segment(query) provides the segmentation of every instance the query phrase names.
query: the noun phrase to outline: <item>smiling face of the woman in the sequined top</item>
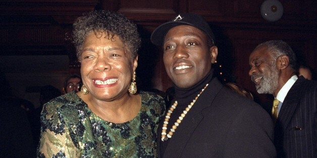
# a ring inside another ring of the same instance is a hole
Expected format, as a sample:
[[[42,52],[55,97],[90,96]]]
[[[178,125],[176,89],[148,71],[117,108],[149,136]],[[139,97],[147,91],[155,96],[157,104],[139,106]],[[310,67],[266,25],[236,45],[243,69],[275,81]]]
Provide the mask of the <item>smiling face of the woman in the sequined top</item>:
[[[102,101],[112,101],[128,95],[137,58],[131,61],[130,50],[115,35],[90,32],[83,44],[81,74],[88,95]]]

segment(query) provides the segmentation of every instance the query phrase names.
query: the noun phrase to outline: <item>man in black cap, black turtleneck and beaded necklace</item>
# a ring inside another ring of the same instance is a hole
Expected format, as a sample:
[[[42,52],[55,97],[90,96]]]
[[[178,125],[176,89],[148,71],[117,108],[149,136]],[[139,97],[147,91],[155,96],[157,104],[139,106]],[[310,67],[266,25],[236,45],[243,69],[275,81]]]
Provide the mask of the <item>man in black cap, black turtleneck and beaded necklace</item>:
[[[206,21],[180,14],[157,27],[175,98],[158,127],[160,157],[275,157],[273,121],[253,101],[214,76],[218,48]]]

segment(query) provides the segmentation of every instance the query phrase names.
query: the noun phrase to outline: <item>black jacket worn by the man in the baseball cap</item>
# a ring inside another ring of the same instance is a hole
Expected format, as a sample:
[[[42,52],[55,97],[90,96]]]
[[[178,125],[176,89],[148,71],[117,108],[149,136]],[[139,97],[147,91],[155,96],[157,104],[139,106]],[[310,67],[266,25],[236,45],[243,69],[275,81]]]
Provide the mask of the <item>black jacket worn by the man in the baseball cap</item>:
[[[209,83],[168,140],[164,155],[160,152],[162,124],[157,134],[159,156],[276,156],[269,114],[255,102],[225,88],[217,78]]]

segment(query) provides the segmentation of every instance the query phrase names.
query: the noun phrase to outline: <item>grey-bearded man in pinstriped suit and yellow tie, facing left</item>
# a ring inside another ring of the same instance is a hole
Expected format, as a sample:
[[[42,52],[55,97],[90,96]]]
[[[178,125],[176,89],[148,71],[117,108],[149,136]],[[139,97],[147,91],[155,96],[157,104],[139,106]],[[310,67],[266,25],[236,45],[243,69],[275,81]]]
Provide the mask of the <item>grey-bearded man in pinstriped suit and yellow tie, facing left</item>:
[[[257,93],[275,98],[272,117],[278,157],[316,157],[317,83],[297,77],[295,53],[282,40],[256,46],[249,64]]]

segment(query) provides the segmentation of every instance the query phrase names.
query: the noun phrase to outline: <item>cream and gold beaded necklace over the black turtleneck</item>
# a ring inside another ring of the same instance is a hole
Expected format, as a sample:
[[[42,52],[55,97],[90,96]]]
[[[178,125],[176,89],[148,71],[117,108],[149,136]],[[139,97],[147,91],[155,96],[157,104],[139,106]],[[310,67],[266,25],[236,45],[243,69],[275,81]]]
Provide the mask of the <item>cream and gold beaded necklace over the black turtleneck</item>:
[[[184,117],[186,116],[186,114],[188,113],[190,108],[192,108],[192,106],[195,104],[195,102],[198,99],[198,97],[207,88],[207,86],[208,86],[208,84],[206,84],[206,86],[199,92],[197,97],[195,97],[195,99],[190,104],[188,104],[188,106],[185,108],[185,110],[183,111],[181,116],[178,117],[178,119],[176,120],[176,122],[174,123],[172,128],[170,129],[170,132],[167,134],[166,133],[167,132],[167,125],[169,124],[169,120],[171,118],[171,115],[172,115],[173,111],[177,107],[177,101],[175,101],[175,103],[171,106],[171,108],[168,110],[168,112],[166,113],[166,116],[165,116],[164,124],[163,124],[163,127],[162,127],[162,139],[161,139],[162,141],[167,141],[170,138],[172,138],[172,135],[174,134],[174,132],[177,129],[177,127],[179,126],[179,124],[181,124],[182,120],[184,119]]]

